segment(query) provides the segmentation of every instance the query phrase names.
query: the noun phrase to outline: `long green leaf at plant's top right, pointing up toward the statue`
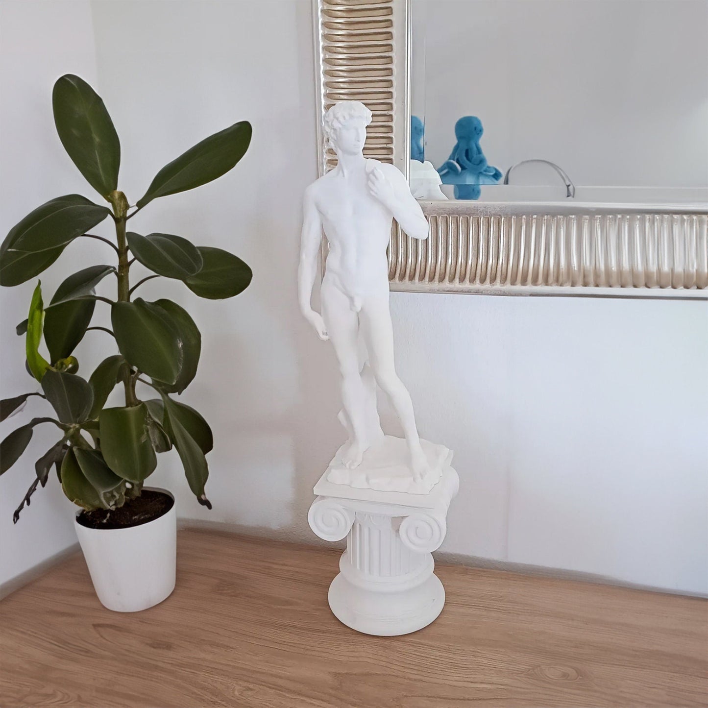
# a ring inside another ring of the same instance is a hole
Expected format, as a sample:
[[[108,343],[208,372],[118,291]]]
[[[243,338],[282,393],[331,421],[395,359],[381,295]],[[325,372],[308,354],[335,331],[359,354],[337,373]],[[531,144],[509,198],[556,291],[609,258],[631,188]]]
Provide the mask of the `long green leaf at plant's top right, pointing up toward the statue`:
[[[142,209],[157,197],[194,189],[221,177],[246,154],[251,132],[251,123],[242,120],[188,149],[156,174],[137,206]]]

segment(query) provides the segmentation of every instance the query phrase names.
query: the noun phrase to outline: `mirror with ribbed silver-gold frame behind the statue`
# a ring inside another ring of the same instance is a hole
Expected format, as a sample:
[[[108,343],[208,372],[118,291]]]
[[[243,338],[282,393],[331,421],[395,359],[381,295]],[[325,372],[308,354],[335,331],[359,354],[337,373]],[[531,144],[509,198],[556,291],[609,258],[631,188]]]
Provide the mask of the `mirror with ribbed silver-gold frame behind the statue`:
[[[392,290],[708,297],[708,3],[315,3],[320,124],[366,103],[430,222]]]

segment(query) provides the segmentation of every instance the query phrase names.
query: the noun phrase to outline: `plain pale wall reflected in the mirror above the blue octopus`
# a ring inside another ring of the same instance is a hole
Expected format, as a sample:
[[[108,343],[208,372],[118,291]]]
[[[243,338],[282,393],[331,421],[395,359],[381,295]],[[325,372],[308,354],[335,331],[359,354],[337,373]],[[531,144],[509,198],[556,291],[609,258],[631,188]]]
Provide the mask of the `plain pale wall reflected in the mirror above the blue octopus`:
[[[576,185],[706,188],[708,2],[413,0],[413,109],[436,167],[476,115],[502,172],[541,158]]]

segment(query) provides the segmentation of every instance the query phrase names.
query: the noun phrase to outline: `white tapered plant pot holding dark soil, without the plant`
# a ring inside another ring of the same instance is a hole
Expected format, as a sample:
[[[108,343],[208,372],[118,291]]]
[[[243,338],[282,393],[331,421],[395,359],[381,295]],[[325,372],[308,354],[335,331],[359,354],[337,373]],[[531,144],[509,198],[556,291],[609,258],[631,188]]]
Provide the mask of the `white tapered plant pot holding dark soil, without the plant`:
[[[145,489],[164,492],[174,499],[166,489]],[[168,598],[174,590],[176,504],[173,503],[166,514],[139,526],[92,529],[77,520],[74,520],[74,526],[89,566],[93,588],[108,610],[147,610]]]

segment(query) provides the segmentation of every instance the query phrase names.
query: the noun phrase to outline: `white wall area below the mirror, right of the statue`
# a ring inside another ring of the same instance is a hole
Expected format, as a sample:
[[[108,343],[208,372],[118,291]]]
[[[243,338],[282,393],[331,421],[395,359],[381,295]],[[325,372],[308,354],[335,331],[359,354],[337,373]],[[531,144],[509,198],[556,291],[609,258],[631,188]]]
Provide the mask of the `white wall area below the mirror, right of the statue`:
[[[401,377],[462,479],[443,550],[708,589],[706,302],[404,295]]]

